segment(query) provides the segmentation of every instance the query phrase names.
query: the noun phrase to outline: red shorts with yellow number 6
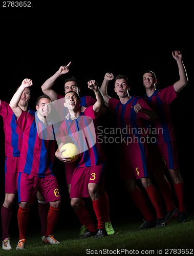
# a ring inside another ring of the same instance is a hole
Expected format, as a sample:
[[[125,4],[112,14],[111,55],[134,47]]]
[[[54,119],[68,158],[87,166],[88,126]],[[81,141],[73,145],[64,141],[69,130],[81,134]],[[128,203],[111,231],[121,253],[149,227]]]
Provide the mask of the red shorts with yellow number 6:
[[[39,191],[46,203],[60,200],[59,185],[55,176],[39,178],[26,173],[18,175],[18,202],[33,204]]]

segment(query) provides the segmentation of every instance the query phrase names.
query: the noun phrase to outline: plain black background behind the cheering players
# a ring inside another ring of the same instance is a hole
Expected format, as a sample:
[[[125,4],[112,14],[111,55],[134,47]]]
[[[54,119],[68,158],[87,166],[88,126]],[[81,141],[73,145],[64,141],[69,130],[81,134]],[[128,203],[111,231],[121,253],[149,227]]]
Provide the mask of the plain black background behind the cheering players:
[[[184,7],[178,11],[168,6],[163,12],[161,8],[128,8],[122,3],[116,6],[99,6],[94,3],[93,6],[66,6],[64,3],[48,5],[44,1],[41,1],[41,6],[40,3],[33,3],[30,9],[1,8],[0,98],[9,102],[21,81],[31,78],[33,86],[29,106],[35,109],[36,98],[42,94],[42,83],[69,61],[72,61],[69,73],[59,77],[53,87],[60,94],[63,94],[64,77],[74,75],[81,87],[80,95],[93,96],[87,88],[88,80],[96,79],[100,85],[108,71],[114,75],[126,75],[131,83],[131,95],[138,95],[144,93],[143,72],[152,70],[157,75],[157,89],[160,90],[179,79],[177,63],[171,51],[182,51],[189,82],[170,108],[177,137],[180,172],[185,183],[186,207],[188,212],[192,212],[194,172],[191,15],[187,12],[187,15],[180,17],[179,12],[183,12]],[[116,96],[112,83],[109,94]],[[109,110],[101,117],[100,123],[104,127],[116,125]],[[0,199],[3,204],[5,152],[2,119],[0,143]],[[111,219],[114,221],[126,217],[130,220],[130,217],[140,214],[120,180],[118,144],[104,143],[103,146],[107,155],[106,192],[110,198]],[[64,222],[64,226],[71,221],[78,223],[77,217],[72,214],[64,168],[58,159],[54,169],[62,195],[60,225],[61,222]],[[14,224],[16,210],[17,203],[12,220]],[[32,220],[35,217],[36,204]]]

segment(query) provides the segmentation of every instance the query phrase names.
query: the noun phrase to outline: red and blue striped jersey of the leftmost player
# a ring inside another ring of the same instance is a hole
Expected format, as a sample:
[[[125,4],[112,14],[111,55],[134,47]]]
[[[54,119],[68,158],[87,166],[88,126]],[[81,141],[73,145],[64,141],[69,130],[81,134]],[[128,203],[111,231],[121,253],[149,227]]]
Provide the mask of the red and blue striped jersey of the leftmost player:
[[[29,109],[29,113],[34,115],[35,111]],[[5,133],[5,156],[20,156],[21,145],[23,143],[23,132],[16,124],[16,116],[9,106],[9,103],[2,101],[0,104],[0,115],[3,117]]]

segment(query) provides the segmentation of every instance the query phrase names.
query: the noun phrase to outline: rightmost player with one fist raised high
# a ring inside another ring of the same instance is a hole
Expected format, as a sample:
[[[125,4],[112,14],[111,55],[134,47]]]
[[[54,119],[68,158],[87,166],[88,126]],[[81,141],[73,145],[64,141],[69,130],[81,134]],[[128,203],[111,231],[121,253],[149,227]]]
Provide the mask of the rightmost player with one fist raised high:
[[[150,108],[156,111],[158,116],[153,121],[156,131],[159,131],[156,134],[156,148],[165,166],[168,168],[169,176],[173,181],[174,191],[179,204],[179,222],[183,223],[186,222],[184,182],[179,171],[176,137],[170,117],[169,104],[177,98],[178,93],[187,84],[188,78],[182,60],[182,53],[175,51],[172,52],[172,55],[177,61],[180,79],[171,86],[157,90],[156,74],[152,71],[146,71],[143,74],[143,85],[146,91],[143,99],[148,103]],[[168,222],[174,214],[176,214],[176,208],[168,210],[166,221]]]

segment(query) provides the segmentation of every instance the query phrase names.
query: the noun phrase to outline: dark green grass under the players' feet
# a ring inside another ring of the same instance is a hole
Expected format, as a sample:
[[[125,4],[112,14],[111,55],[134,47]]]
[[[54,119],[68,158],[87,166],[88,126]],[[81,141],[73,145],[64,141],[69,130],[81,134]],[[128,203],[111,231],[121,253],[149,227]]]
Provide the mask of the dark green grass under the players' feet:
[[[103,255],[114,254],[113,250],[128,250],[129,252],[122,252],[121,255],[135,255],[132,250],[149,250],[145,254],[159,254],[158,250],[163,250],[165,254],[166,249],[192,249],[194,247],[194,215],[187,217],[186,223],[178,223],[178,219],[174,218],[165,227],[151,228],[147,230],[137,230],[142,224],[139,221],[121,220],[113,223],[115,234],[100,239],[87,238],[76,239],[79,233],[79,227],[68,227],[62,230],[55,230],[55,238],[60,241],[57,245],[47,245],[40,243],[39,232],[34,231],[30,234],[28,230],[26,248],[17,251],[15,249],[18,238],[13,236],[11,238],[12,250],[0,252],[0,255]],[[88,251],[87,251],[88,249]],[[94,251],[91,251],[94,250]],[[104,250],[100,252],[99,250]],[[108,253],[109,250],[109,253]],[[93,253],[91,253],[93,252]],[[193,254],[190,253],[170,253],[168,254]],[[192,253],[191,253],[192,252]],[[116,253],[119,254],[119,253]]]

